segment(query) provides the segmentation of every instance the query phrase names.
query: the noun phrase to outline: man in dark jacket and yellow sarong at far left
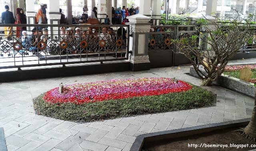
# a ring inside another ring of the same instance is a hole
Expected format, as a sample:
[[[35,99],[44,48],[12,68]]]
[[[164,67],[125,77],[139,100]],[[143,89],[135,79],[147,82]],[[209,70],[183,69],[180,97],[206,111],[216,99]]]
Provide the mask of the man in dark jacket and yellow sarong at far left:
[[[4,6],[5,12],[2,12],[2,24],[14,24],[15,20],[13,17],[13,13],[9,11],[9,6]],[[12,39],[12,31],[11,27],[4,27],[4,35],[7,40]]]

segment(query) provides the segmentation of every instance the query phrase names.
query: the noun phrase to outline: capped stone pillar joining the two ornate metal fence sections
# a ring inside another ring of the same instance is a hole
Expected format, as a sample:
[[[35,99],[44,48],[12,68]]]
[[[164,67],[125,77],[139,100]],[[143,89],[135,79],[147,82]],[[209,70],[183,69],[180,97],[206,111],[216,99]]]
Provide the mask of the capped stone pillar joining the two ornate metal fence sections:
[[[150,69],[148,58],[148,36],[150,32],[150,17],[142,14],[136,14],[128,17],[126,24],[130,25],[129,54],[128,61],[132,71],[141,71]]]

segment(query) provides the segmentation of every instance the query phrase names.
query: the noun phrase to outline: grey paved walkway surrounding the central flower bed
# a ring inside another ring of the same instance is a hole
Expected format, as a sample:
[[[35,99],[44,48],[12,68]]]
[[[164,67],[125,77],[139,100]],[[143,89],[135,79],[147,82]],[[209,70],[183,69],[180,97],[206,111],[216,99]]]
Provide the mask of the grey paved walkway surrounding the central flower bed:
[[[180,70],[156,68],[144,72],[116,72],[90,76],[58,77],[0,83],[0,127],[4,127],[8,151],[128,151],[136,136],[209,123],[247,118],[254,100],[218,86],[205,87],[217,93],[216,106],[186,111],[124,117],[90,123],[62,121],[35,115],[32,98],[65,84],[138,77],[176,77],[200,85]]]

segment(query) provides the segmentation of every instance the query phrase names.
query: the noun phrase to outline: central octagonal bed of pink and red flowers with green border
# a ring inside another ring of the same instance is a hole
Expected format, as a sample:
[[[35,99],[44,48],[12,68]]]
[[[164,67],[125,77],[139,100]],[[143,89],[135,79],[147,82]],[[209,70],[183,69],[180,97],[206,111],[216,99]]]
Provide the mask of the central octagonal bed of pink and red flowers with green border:
[[[34,99],[40,115],[70,121],[95,121],[211,105],[214,95],[184,81],[140,78],[58,87]]]

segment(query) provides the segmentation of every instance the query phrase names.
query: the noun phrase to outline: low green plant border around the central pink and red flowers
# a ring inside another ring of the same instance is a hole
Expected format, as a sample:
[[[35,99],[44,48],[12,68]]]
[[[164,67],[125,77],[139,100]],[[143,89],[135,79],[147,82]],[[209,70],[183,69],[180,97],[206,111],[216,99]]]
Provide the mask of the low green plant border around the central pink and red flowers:
[[[116,99],[77,105],[74,103],[48,103],[44,94],[34,99],[34,109],[38,115],[68,121],[98,121],[130,115],[162,113],[193,109],[212,105],[214,94],[193,85],[193,88],[179,93]]]

